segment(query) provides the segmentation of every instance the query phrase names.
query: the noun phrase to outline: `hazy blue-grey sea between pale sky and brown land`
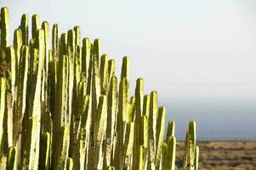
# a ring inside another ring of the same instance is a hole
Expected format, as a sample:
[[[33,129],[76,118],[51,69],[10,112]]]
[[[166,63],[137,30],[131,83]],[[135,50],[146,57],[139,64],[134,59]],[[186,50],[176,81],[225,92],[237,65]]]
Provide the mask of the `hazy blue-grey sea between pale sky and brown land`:
[[[173,119],[175,136],[185,139],[190,120],[196,121],[197,140],[256,140],[256,97],[174,96],[158,100]]]

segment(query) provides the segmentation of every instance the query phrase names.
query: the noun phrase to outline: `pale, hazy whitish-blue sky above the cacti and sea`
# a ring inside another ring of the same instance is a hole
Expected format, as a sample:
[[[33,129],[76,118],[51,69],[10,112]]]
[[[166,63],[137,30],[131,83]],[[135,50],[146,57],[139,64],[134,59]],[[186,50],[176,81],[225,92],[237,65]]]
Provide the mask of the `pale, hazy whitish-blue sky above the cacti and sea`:
[[[58,23],[61,32],[81,26],[82,37],[100,38],[101,54],[116,59],[117,70],[128,55],[130,94],[143,77],[145,94],[156,90],[169,112],[179,114],[193,101],[200,104],[193,107],[207,112],[218,101],[235,99],[230,114],[249,107],[248,119],[255,118],[255,0],[1,0],[0,6],[9,7],[12,31],[21,14],[39,14],[41,21]],[[214,102],[205,106],[204,99]]]

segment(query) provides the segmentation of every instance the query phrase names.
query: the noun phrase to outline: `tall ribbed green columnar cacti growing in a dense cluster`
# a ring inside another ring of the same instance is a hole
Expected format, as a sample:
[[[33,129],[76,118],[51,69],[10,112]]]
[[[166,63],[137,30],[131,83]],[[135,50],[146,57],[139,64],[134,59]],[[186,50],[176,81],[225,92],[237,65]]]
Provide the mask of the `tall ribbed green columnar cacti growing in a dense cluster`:
[[[174,122],[157,105],[156,91],[136,82],[129,97],[129,58],[100,55],[100,40],[82,39],[75,26],[60,34],[23,14],[9,43],[9,9],[1,8],[0,169],[174,170]],[[50,39],[52,47],[50,47]],[[1,71],[3,73],[3,71]],[[198,169],[196,123],[185,139],[184,169]]]

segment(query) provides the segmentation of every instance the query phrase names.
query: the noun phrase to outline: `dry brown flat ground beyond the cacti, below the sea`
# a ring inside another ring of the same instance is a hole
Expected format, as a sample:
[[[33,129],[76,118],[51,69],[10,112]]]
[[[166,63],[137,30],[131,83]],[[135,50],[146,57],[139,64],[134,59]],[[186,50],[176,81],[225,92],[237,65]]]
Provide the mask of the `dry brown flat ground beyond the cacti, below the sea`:
[[[256,170],[256,142],[197,142],[200,170]],[[184,142],[177,143],[177,169],[182,167]]]

